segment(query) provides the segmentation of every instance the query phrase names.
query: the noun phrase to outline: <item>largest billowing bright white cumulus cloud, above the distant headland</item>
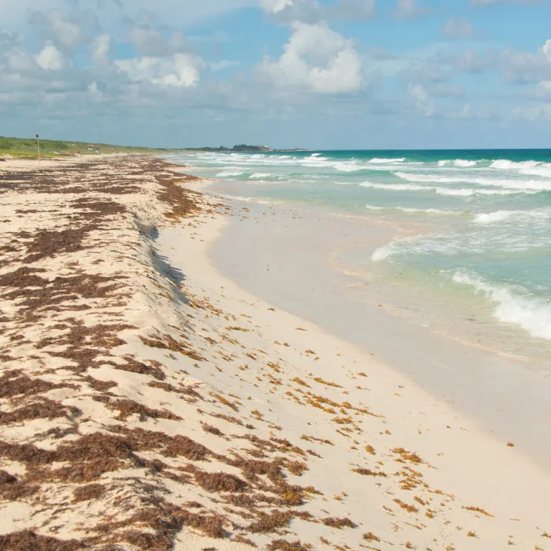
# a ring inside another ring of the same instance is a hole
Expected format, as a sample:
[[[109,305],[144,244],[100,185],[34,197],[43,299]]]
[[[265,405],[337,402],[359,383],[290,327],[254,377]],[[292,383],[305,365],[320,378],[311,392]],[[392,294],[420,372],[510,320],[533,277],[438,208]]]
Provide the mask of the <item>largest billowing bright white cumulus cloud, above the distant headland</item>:
[[[277,61],[260,65],[275,85],[338,94],[362,87],[362,59],[353,43],[326,23],[293,23],[293,34]]]

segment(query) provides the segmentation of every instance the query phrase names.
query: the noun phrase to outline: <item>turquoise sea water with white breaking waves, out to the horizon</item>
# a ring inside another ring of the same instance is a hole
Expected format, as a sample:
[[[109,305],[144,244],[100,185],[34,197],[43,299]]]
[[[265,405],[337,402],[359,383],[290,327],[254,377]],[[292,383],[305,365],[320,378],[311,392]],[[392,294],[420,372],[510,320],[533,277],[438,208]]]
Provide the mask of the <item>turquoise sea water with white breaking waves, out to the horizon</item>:
[[[551,340],[551,150],[318,151],[171,157],[254,200],[420,225],[343,262],[480,306]]]

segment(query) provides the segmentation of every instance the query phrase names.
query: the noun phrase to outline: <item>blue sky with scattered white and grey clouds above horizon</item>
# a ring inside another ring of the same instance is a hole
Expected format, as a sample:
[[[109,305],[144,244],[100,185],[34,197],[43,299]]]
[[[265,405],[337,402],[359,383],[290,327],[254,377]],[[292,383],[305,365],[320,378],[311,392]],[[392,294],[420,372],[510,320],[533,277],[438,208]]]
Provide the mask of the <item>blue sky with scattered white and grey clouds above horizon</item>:
[[[0,135],[551,147],[551,0],[0,0]]]

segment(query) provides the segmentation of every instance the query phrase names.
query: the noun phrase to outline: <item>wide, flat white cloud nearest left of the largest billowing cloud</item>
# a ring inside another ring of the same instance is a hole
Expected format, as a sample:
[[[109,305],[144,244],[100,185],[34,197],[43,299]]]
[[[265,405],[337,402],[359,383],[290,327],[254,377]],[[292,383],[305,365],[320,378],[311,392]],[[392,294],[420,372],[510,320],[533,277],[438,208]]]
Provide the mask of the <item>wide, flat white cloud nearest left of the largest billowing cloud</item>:
[[[149,82],[163,87],[196,85],[205,63],[194,54],[170,57],[143,56],[115,61],[116,66],[136,82]]]

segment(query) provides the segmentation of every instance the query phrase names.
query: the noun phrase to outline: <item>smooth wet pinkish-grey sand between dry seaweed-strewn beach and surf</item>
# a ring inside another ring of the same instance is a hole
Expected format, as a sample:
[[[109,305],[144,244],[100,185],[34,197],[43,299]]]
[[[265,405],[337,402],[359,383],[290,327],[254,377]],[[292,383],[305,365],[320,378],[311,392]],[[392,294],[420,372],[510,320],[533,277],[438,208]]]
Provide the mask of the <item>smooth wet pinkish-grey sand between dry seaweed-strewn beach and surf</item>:
[[[373,250],[384,245],[378,223],[253,201],[236,200],[236,205],[237,211],[246,205],[247,217],[234,222],[212,249],[222,273],[273,304],[373,352],[433,396],[455,404],[486,432],[522,442],[534,460],[549,464],[551,438],[541,435],[539,426],[550,417],[551,380],[537,369],[537,362],[412,322],[400,315],[399,299],[393,308],[386,307],[388,293],[380,292],[377,282],[340,275],[330,265],[336,244],[350,244],[350,235]],[[270,216],[264,216],[264,211],[270,211]],[[267,220],[267,225],[259,225],[259,219]],[[238,262],[227,253],[231,243],[247,251]],[[270,264],[269,271],[263,264]],[[300,292],[292,293],[289,289],[297,282]],[[312,292],[303,292],[308,287]]]

